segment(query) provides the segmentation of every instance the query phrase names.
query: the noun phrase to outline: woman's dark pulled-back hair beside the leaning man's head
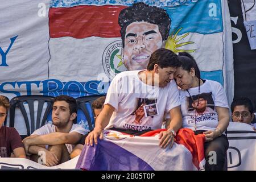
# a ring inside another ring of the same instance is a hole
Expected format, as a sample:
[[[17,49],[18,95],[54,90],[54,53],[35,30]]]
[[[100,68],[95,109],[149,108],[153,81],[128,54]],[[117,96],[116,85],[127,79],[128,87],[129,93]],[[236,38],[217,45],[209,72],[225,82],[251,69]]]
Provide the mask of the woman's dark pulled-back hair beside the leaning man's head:
[[[181,68],[184,69],[185,71],[190,72],[191,68],[195,69],[195,75],[197,78],[201,78],[200,75],[200,70],[196,64],[196,60],[187,52],[180,52],[178,56],[178,60],[180,61]]]

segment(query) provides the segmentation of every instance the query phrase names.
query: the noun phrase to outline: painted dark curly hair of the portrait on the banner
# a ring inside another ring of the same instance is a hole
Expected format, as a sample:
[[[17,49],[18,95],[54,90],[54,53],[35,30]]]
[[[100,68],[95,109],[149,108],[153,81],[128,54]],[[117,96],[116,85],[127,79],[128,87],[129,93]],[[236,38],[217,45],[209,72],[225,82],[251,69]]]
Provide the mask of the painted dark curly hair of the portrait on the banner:
[[[156,24],[158,25],[163,41],[168,38],[171,19],[166,10],[156,6],[148,6],[143,2],[138,2],[134,3],[133,6],[123,9],[119,14],[118,23],[121,27],[120,33],[123,47],[125,47],[126,28],[133,22],[148,22]]]

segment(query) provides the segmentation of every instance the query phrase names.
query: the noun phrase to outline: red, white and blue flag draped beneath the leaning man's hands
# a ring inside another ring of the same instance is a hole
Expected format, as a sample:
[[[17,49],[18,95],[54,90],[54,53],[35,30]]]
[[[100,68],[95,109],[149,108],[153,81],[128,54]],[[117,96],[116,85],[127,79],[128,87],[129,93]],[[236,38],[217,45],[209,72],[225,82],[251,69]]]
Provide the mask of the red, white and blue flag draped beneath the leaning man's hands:
[[[204,135],[180,129],[172,148],[159,147],[158,134],[164,129],[141,136],[104,130],[104,139],[85,146],[76,168],[85,170],[198,170],[204,159]],[[142,137],[143,136],[143,137]]]

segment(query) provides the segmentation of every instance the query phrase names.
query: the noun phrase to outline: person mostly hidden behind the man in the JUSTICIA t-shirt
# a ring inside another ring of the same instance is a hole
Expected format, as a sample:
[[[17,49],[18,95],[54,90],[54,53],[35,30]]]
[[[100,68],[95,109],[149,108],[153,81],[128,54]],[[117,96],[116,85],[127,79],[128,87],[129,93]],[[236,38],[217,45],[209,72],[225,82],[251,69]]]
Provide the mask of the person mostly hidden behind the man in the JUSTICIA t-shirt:
[[[92,102],[94,121],[96,121],[96,118],[101,113],[102,106],[104,105],[105,99],[106,99],[106,97],[102,96]],[[77,144],[77,146],[73,149],[73,151],[71,152],[71,155],[70,155],[71,159],[73,159],[76,156],[81,154],[82,148],[84,147],[85,138],[87,137],[87,135],[88,134],[84,135],[84,137],[82,137],[82,139],[80,140],[79,144]]]

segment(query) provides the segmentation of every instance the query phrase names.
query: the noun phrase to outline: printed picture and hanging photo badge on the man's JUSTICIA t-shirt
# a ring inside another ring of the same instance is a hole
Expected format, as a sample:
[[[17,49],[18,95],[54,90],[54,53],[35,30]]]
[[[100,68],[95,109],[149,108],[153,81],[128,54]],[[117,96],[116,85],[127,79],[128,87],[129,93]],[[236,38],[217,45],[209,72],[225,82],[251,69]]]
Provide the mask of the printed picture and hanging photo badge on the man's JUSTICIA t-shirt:
[[[141,125],[151,129],[154,115],[158,115],[156,106],[157,99],[137,98],[131,121],[127,122],[132,125]]]

